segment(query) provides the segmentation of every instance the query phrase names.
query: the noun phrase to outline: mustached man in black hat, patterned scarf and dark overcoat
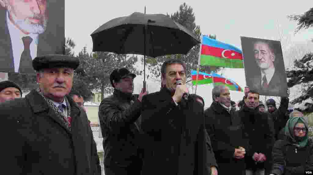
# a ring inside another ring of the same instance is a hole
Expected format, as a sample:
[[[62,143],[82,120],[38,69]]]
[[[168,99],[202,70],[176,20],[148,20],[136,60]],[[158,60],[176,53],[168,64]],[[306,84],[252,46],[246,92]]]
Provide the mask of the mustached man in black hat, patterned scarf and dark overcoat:
[[[33,60],[39,88],[0,104],[4,172],[101,174],[86,113],[68,96],[79,60],[45,55]]]

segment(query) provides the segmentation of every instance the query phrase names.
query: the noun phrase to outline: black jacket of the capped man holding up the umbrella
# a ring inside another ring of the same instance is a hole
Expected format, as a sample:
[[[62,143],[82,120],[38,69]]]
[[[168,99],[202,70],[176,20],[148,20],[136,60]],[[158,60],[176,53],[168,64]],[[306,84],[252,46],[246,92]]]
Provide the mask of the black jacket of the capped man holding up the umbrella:
[[[141,102],[136,97],[115,89],[99,106],[105,166],[129,167],[132,164],[136,169],[141,166],[140,133],[135,123],[140,116]]]

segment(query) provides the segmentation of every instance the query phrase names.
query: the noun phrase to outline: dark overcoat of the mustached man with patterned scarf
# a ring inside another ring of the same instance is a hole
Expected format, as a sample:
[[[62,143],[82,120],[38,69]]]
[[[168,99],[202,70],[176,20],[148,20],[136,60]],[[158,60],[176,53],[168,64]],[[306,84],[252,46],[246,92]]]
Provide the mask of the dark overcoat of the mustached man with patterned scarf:
[[[68,97],[71,131],[41,95],[0,104],[3,172],[20,174],[101,174],[86,113]]]

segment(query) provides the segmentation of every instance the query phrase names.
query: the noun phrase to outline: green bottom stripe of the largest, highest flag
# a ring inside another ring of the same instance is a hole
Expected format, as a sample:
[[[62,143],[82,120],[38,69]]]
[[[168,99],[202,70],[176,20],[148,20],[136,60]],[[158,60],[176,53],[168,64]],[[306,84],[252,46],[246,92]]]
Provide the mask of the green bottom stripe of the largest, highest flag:
[[[239,59],[218,58],[211,55],[201,55],[200,65],[220,66],[225,68],[244,68],[244,62]]]

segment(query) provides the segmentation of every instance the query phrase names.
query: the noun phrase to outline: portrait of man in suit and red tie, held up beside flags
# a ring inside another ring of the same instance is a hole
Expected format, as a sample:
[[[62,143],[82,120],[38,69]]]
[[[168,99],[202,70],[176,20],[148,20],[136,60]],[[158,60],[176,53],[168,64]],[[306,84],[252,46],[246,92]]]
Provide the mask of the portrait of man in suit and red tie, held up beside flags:
[[[260,95],[287,96],[287,78],[280,41],[240,37],[246,84]]]

